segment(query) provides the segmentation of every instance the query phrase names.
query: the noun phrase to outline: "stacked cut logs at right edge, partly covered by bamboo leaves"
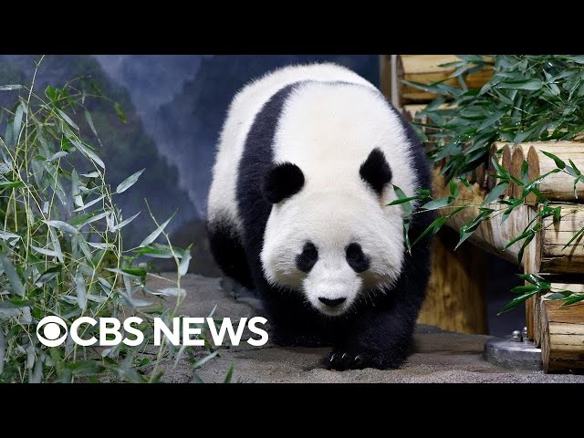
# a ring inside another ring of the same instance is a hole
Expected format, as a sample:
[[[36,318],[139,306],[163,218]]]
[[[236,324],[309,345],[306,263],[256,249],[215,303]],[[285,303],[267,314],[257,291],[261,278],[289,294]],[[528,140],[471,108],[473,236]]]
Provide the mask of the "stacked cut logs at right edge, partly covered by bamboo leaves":
[[[574,148],[578,148],[578,150]],[[575,159],[578,160],[578,154],[584,151],[584,145],[571,144],[568,146],[562,144],[562,142],[542,143],[535,146],[533,143],[521,143],[515,146],[496,144],[495,147],[491,148],[491,152],[494,153],[501,149],[503,152],[501,153],[500,162],[503,167],[516,177],[520,177],[521,165],[524,160],[527,160],[528,164],[530,160],[535,163],[529,164],[528,168],[527,176],[531,181],[556,167],[555,162],[548,159],[541,151],[549,151],[566,162],[570,158],[579,167]],[[511,164],[509,164],[508,160],[509,153],[511,154]],[[544,168],[541,165],[542,157],[549,160],[548,167]],[[534,161],[534,158],[537,161]],[[537,165],[538,162],[539,165]],[[562,175],[566,174],[562,172]],[[439,175],[434,175],[434,193],[436,197],[448,195],[446,188],[443,185],[442,188],[440,186],[440,178]],[[545,181],[540,184],[540,187],[545,185],[543,184]],[[577,188],[576,195],[579,197],[576,198],[573,191],[573,179],[568,176],[568,181],[572,186],[571,193],[565,190],[565,187],[568,186],[566,182],[558,183],[557,185],[545,185],[547,193],[549,193],[547,195],[548,198],[553,200],[566,200],[568,198],[572,203],[548,203],[548,206],[552,208],[561,207],[561,219],[554,222],[553,216],[548,216],[541,220],[541,230],[527,246],[522,265],[525,272],[538,273],[544,276],[551,275],[555,278],[556,281],[552,283],[553,289],[568,289],[584,293],[584,277],[580,277],[578,284],[558,283],[558,277],[561,279],[562,277],[584,273],[584,245],[582,245],[584,243],[584,235],[581,235],[564,248],[569,239],[584,227],[584,204],[575,203],[576,201],[584,202],[584,196],[580,198],[579,189]],[[556,187],[558,192],[555,192]],[[455,205],[472,203],[473,206],[454,215],[447,223],[455,230],[460,229],[465,222],[470,221],[480,213],[478,204],[482,203],[487,194],[485,190],[481,190],[478,184],[473,186],[473,192],[463,192],[465,190],[464,186],[460,184],[459,191],[461,195]],[[516,187],[514,190],[516,192],[512,194],[519,197],[521,188]],[[529,197],[527,201],[529,201]],[[517,263],[516,255],[520,244],[512,245],[506,251],[502,251],[502,248],[511,238],[521,234],[527,224],[536,217],[542,206],[537,205],[535,201],[531,205],[518,207],[514,213],[510,214],[504,224],[500,224],[496,218],[481,224],[469,241]],[[497,207],[496,204],[490,204],[489,207],[495,209],[495,214],[498,213],[497,209],[502,208]],[[448,214],[448,211],[439,211],[439,214],[441,213]],[[541,297],[533,297],[527,300],[527,336],[534,339],[536,346],[541,347],[542,358],[547,372],[583,370],[584,303],[579,307],[573,306],[571,308],[559,308],[560,304],[561,301],[549,301]],[[563,319],[558,319],[560,317]]]

